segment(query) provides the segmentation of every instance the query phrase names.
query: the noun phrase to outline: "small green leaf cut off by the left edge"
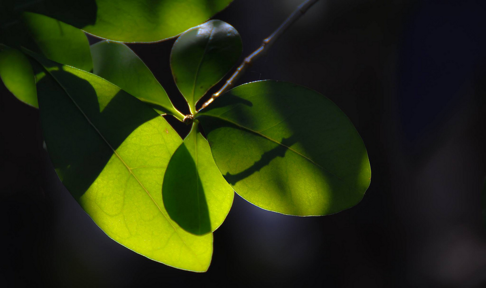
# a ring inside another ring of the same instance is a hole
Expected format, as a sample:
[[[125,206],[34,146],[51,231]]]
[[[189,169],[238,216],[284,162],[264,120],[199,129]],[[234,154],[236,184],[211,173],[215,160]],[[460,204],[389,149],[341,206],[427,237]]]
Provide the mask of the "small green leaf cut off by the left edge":
[[[17,49],[4,46],[0,49],[1,80],[17,99],[38,108],[34,71],[29,59]]]

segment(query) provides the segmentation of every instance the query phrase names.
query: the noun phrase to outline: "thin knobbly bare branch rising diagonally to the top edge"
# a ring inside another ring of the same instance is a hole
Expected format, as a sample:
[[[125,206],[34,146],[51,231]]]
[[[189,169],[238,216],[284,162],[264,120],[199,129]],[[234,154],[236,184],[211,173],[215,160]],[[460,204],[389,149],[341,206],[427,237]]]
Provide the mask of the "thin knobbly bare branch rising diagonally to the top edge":
[[[251,53],[244,59],[243,63],[236,69],[233,75],[231,75],[231,77],[226,80],[225,85],[223,85],[223,87],[221,87],[218,92],[214,93],[211,98],[209,98],[209,100],[203,104],[201,109],[206,108],[209,104],[211,104],[212,101],[214,101],[214,99],[231,89],[236,81],[240,79],[246,69],[251,66],[253,62],[255,62],[255,60],[260,58],[261,55],[265,54],[268,48],[270,48],[275,43],[275,41],[277,41],[280,35],[282,35],[283,32],[285,32],[292,24],[294,24],[294,22],[297,21],[300,16],[304,15],[307,10],[309,10],[309,8],[311,8],[311,6],[314,5],[317,1],[318,0],[305,0],[302,4],[300,4],[297,9],[295,9],[295,11],[290,16],[288,16],[282,24],[280,24],[277,30],[275,30],[270,36],[263,40],[260,48],[256,49],[253,53]]]

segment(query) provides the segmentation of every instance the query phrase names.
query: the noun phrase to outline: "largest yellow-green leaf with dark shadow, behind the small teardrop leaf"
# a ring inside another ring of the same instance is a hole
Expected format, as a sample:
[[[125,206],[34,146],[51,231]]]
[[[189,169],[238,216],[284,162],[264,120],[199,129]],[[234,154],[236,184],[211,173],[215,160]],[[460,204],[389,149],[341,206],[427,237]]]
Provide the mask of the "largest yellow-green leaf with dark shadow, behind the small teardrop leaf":
[[[181,143],[153,109],[108,81],[38,56],[44,139],[57,175],[93,221],[121,245],[176,268],[203,272],[212,234],[170,220],[162,181]]]

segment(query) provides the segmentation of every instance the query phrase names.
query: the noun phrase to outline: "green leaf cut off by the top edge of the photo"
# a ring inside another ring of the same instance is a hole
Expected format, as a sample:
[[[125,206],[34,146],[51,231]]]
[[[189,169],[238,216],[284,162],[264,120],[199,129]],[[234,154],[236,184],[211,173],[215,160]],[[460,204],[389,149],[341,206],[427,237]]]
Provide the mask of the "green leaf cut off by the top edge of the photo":
[[[17,3],[18,1],[25,3]],[[50,16],[113,41],[154,42],[172,38],[203,23],[223,10],[231,1],[16,0],[12,1],[15,5],[7,5],[6,8],[21,7],[24,11]],[[18,8],[13,10],[11,12],[15,13]]]

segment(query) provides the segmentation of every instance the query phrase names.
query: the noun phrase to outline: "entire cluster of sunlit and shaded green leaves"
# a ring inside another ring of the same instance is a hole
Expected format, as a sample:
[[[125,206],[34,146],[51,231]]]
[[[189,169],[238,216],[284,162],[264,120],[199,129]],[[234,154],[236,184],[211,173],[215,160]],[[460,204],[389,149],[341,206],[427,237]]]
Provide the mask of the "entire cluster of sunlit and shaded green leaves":
[[[242,41],[223,21],[190,27],[230,0],[63,2],[7,7],[15,19],[2,22],[9,37],[0,39],[0,77],[18,99],[39,108],[57,175],[113,240],[202,272],[212,255],[211,232],[225,220],[234,191],[260,208],[299,216],[335,213],[363,198],[370,183],[366,149],[325,96],[265,80],[196,111],[198,99],[240,58]],[[191,111],[185,139],[160,115],[181,121],[187,115],[139,57],[121,42],[89,46],[80,28],[123,42],[190,28],[170,56]]]

